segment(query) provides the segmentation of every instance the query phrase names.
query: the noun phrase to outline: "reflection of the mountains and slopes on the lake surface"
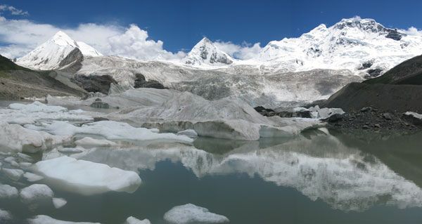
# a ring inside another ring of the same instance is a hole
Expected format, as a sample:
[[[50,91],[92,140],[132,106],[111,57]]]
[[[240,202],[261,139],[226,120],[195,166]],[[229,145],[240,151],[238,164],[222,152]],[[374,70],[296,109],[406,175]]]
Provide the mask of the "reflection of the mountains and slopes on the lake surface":
[[[234,173],[260,176],[342,211],[364,211],[376,205],[422,206],[422,190],[415,184],[421,183],[417,175],[421,167],[416,163],[422,159],[416,150],[420,137],[401,138],[406,139],[365,143],[350,135],[316,131],[267,142],[203,138],[193,145],[97,148],[75,157],[132,171],[153,171],[158,162],[170,160],[198,178]]]

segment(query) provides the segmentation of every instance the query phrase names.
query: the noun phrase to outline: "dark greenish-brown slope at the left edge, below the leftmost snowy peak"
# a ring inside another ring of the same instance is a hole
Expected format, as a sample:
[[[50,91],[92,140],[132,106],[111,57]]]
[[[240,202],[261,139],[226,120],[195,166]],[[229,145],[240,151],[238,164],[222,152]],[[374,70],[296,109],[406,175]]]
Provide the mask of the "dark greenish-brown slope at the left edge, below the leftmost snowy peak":
[[[0,55],[0,98],[84,95],[82,89],[70,87],[56,77],[57,72],[29,70]]]

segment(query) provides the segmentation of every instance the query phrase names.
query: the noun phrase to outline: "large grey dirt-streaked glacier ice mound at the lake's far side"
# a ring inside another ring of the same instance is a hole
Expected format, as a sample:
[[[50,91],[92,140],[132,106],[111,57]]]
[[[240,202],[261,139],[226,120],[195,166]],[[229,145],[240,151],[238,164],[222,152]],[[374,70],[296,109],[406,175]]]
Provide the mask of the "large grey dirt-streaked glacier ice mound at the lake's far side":
[[[62,105],[89,105],[94,100],[60,99],[55,102],[54,98],[50,99],[49,102]],[[146,128],[157,128],[160,131],[193,129],[198,136],[257,140],[261,137],[294,136],[305,129],[322,125],[316,119],[263,117],[243,100],[236,98],[205,100],[192,93],[170,89],[129,89],[101,99],[120,107],[117,112],[105,116],[109,119],[134,121]],[[96,123],[98,122],[92,124]]]

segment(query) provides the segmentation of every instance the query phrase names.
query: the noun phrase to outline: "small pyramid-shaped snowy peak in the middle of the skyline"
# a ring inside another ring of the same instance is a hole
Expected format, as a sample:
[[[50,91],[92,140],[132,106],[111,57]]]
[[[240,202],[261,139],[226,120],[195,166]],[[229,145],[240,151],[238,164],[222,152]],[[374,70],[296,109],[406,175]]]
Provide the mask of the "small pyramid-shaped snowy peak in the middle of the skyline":
[[[198,44],[193,46],[192,50],[183,59],[186,65],[193,65],[195,67],[213,65],[225,66],[231,65],[234,59],[227,53],[221,51],[215,44],[212,44],[210,39],[204,37]]]

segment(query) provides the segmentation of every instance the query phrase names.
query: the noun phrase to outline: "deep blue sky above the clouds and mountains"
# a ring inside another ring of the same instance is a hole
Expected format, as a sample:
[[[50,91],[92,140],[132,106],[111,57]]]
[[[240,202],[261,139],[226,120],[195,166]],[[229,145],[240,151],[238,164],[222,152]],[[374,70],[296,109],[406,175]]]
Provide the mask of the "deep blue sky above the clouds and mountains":
[[[238,45],[260,43],[264,46],[271,40],[298,37],[321,23],[333,25],[341,18],[355,15],[373,18],[386,27],[422,28],[422,20],[418,16],[422,1],[0,0],[1,4],[29,13],[11,15],[0,12],[8,22],[13,19],[29,20],[60,29],[76,29],[80,24],[91,22],[122,27],[136,24],[148,32],[147,39],[157,41],[155,44],[158,45],[158,40],[161,40],[163,44],[160,47],[172,53],[189,51],[202,37]],[[14,43],[14,37],[7,39],[1,38],[1,35],[0,30],[0,46],[22,44]],[[92,42],[94,40],[87,41],[89,44]],[[29,49],[37,44],[26,47]],[[0,53],[4,51],[0,49]],[[24,51],[19,52],[22,54]]]

